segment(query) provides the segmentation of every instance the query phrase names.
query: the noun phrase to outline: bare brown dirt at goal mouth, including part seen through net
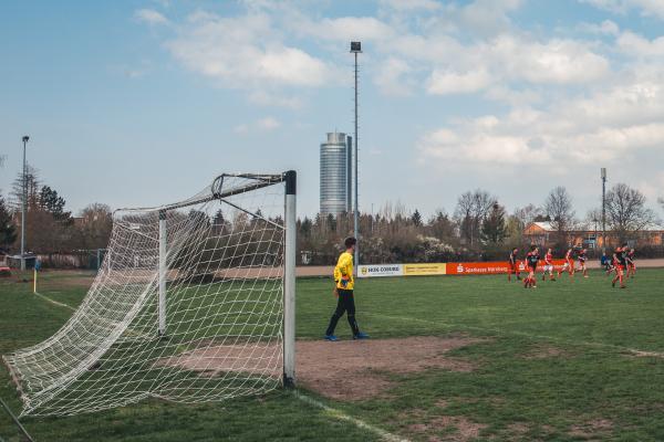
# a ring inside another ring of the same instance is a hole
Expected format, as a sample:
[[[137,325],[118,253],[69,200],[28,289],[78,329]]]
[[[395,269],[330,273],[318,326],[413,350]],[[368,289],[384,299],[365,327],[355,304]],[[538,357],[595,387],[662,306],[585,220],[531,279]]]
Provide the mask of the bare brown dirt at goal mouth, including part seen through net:
[[[445,354],[479,341],[465,337],[298,341],[295,375],[298,383],[324,397],[363,400],[387,390],[392,385],[391,373],[428,369],[471,371],[473,364]],[[280,358],[281,349],[276,344],[217,345],[208,341],[164,358],[157,365],[199,371],[205,377],[226,372],[280,376]]]

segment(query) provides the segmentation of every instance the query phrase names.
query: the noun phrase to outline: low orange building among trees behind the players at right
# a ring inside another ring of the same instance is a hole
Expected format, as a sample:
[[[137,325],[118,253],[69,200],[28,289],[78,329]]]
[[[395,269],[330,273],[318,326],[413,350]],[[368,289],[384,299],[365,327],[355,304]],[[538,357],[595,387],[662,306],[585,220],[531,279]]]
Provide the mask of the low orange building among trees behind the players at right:
[[[598,229],[599,228],[599,229]],[[531,222],[526,225],[523,236],[532,244],[541,246],[551,245],[557,241],[558,232],[549,221]],[[602,230],[599,225],[578,225],[566,232],[568,245],[581,245],[585,249],[602,249]],[[630,246],[636,245],[662,245],[664,244],[664,228],[649,225],[639,232],[634,232],[627,241]],[[618,239],[612,231],[606,230],[606,246],[618,244]]]

